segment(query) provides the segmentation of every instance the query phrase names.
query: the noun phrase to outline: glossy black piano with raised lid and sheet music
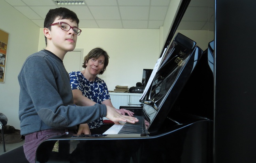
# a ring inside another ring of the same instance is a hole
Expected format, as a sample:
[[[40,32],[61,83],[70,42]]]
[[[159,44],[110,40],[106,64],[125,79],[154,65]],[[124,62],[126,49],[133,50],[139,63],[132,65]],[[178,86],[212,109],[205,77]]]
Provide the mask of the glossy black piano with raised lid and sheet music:
[[[141,121],[118,125],[116,133],[48,139],[36,162],[212,163],[213,45],[214,0],[181,0],[143,106],[126,108]]]

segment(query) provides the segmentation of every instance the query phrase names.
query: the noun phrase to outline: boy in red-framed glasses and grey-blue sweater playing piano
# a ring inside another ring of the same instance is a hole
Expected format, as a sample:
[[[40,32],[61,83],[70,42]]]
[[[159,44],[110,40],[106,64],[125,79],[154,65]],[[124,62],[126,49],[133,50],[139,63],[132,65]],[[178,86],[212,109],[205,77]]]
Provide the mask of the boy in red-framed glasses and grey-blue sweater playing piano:
[[[18,75],[21,135],[25,135],[24,153],[30,163],[35,162],[36,148],[43,140],[65,132],[75,134],[81,123],[104,116],[114,122],[138,121],[104,104],[73,105],[69,75],[62,60],[75,49],[81,33],[78,24],[77,15],[69,9],[49,10],[43,29],[46,48],[30,55]]]

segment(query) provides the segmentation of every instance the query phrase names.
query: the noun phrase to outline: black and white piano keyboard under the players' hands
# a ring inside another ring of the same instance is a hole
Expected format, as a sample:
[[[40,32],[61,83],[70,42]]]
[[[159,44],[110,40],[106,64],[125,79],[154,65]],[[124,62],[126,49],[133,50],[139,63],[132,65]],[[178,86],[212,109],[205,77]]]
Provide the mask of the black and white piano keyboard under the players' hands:
[[[142,116],[134,116],[139,119],[137,123],[128,123],[124,125],[113,125],[103,134],[148,134],[145,127],[145,119]]]

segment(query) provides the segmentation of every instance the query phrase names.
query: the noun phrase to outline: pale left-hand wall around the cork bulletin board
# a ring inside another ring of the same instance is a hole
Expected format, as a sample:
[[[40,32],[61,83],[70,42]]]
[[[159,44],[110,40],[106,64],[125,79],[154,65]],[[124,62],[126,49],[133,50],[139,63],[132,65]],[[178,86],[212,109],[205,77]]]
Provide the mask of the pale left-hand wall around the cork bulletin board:
[[[19,129],[18,74],[28,55],[38,51],[40,28],[0,0],[0,29],[9,33],[5,82],[0,83],[0,112],[8,117],[8,125]]]

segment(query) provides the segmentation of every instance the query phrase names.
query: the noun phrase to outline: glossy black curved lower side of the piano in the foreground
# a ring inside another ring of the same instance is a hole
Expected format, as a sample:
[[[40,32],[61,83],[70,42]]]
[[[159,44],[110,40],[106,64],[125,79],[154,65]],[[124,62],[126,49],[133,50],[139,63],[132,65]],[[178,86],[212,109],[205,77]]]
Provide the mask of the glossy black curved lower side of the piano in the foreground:
[[[140,134],[66,135],[44,141],[37,162],[48,163],[210,163],[211,121],[173,127],[156,136]],[[58,141],[55,152],[49,144]]]

